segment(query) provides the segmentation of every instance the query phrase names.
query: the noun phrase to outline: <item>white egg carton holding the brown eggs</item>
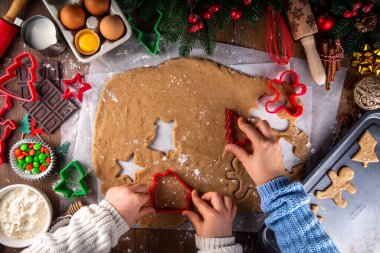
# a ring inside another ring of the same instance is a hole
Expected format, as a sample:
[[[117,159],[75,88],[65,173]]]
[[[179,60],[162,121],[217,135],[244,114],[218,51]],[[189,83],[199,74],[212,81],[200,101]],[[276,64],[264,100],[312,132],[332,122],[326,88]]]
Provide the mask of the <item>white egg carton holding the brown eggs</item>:
[[[44,2],[46,8],[49,10],[50,14],[54,18],[56,24],[58,25],[63,36],[65,37],[67,44],[69,44],[71,50],[74,52],[75,57],[81,62],[90,62],[90,61],[95,60],[96,58],[104,55],[105,53],[111,51],[112,49],[114,49],[114,48],[120,46],[121,44],[123,44],[124,42],[126,42],[132,35],[132,28],[131,28],[131,25],[129,24],[127,18],[124,16],[123,12],[121,11],[121,9],[120,9],[119,5],[116,3],[116,1],[111,0],[110,1],[109,14],[110,15],[118,15],[123,20],[123,22],[125,24],[125,28],[126,28],[126,32],[125,32],[124,36],[121,37],[120,39],[116,40],[116,41],[109,41],[109,40],[104,39],[102,37],[102,35],[99,33],[100,40],[101,40],[101,45],[100,45],[99,51],[93,55],[83,55],[76,49],[75,44],[74,44],[75,34],[78,31],[72,31],[72,30],[65,28],[63,26],[61,20],[59,19],[59,12],[65,4],[75,3],[75,4],[80,4],[83,6],[83,4],[82,4],[83,1],[79,1],[79,0],[42,0],[42,1]],[[87,13],[87,11],[86,11],[86,13]],[[87,16],[87,18],[89,18],[89,16]],[[89,27],[87,27],[87,24],[86,24],[85,28],[89,28]]]

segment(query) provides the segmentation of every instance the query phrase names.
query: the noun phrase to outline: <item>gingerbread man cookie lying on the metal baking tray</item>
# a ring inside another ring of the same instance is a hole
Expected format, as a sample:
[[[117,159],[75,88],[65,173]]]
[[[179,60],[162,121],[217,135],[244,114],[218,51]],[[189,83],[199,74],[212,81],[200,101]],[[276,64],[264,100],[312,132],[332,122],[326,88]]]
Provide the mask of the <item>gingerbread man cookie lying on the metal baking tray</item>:
[[[342,198],[342,191],[346,190],[350,194],[356,192],[356,188],[350,183],[350,180],[354,178],[354,171],[349,167],[343,167],[338,175],[334,170],[330,170],[327,175],[331,180],[331,185],[323,191],[317,191],[315,196],[318,199],[333,199],[337,206],[346,207],[347,201]]]

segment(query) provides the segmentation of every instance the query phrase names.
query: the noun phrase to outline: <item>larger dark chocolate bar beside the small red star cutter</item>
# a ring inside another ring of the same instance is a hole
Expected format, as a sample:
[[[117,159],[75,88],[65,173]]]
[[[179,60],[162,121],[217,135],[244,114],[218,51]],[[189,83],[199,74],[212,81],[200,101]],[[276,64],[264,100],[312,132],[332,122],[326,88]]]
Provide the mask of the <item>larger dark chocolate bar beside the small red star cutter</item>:
[[[21,96],[29,97],[28,86],[22,83],[19,84]],[[78,107],[70,100],[64,99],[62,91],[47,78],[36,86],[36,90],[38,100],[35,102],[23,102],[21,103],[22,107],[37,121],[45,132],[52,134]]]

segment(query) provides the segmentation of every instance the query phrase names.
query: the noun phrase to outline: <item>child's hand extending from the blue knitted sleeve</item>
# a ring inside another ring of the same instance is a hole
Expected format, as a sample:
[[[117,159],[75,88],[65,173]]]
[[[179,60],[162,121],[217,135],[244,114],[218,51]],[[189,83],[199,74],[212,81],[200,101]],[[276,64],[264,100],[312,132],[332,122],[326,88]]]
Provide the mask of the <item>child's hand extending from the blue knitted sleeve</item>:
[[[285,175],[282,162],[281,147],[272,133],[266,120],[258,120],[256,126],[239,118],[239,128],[252,142],[253,154],[248,154],[243,148],[228,144],[226,150],[232,152],[243,164],[249,176],[257,186],[265,184],[274,178]]]

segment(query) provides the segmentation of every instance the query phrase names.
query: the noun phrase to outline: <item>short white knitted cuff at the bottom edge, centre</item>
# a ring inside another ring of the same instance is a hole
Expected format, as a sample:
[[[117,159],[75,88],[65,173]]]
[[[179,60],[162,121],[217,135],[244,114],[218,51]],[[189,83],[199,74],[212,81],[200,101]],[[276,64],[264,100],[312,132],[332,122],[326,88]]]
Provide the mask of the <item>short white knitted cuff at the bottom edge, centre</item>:
[[[235,243],[235,237],[205,238],[195,235],[198,253],[242,253],[243,247]]]

